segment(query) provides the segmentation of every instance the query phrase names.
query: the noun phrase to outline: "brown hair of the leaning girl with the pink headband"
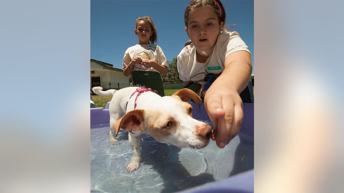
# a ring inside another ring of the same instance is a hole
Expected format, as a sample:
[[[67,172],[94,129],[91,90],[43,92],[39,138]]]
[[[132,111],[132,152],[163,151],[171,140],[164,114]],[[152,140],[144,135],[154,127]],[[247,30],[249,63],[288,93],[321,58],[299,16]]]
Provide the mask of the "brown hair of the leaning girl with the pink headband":
[[[189,6],[187,6],[185,13],[184,13],[184,22],[185,22],[185,26],[187,27],[187,22],[189,22],[189,15],[191,11],[194,11],[196,8],[199,7],[209,7],[212,8],[218,18],[218,24],[221,24],[221,22],[223,22],[223,27],[222,27],[222,31],[226,30],[225,29],[225,23],[226,23],[226,12],[225,9],[221,3],[220,0],[193,0],[190,2]],[[226,30],[228,31],[228,30]],[[187,46],[189,44],[191,44],[191,40],[187,41],[184,45]]]

